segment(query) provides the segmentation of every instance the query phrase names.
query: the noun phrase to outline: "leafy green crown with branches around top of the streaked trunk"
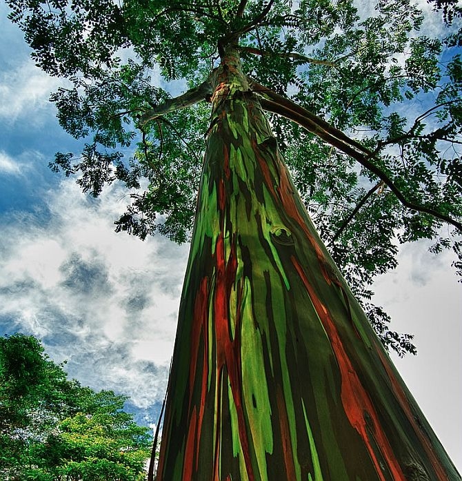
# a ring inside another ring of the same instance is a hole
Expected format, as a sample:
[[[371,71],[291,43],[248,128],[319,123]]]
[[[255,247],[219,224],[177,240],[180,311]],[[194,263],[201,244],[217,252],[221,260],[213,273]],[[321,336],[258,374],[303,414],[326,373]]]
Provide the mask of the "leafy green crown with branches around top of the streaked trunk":
[[[123,182],[115,222],[144,239],[190,236],[208,79],[224,48],[239,52],[321,238],[386,346],[414,352],[370,299],[399,244],[432,239],[462,270],[461,32],[419,32],[411,0],[8,0],[32,57],[66,79],[54,92],[81,153],[50,164],[99,195]],[[367,9],[369,5],[365,5]],[[454,2],[434,2],[451,23]],[[174,100],[172,93],[187,92]],[[198,102],[199,99],[203,100]]]

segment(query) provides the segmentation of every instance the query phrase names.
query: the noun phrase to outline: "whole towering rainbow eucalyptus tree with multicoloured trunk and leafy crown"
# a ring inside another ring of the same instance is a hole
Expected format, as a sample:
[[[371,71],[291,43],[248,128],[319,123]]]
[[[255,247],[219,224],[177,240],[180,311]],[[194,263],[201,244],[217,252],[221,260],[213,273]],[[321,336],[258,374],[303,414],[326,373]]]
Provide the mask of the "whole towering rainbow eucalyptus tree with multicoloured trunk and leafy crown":
[[[459,34],[410,0],[9,3],[88,139],[51,167],[190,237],[157,481],[460,480],[370,303],[397,244],[461,254]]]

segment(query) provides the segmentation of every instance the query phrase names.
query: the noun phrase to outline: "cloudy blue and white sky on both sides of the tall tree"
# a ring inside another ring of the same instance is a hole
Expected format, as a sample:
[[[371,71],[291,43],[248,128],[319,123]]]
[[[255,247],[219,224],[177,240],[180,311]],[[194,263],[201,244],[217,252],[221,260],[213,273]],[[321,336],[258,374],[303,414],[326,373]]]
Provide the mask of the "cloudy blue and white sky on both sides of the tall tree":
[[[58,125],[50,92],[0,3],[0,335],[39,337],[93,389],[129,395],[139,420],[157,422],[168,377],[188,245],[114,233],[127,193],[98,199],[48,168],[78,144]],[[401,248],[374,301],[418,355],[392,358],[462,472],[462,295],[452,257],[419,242]]]

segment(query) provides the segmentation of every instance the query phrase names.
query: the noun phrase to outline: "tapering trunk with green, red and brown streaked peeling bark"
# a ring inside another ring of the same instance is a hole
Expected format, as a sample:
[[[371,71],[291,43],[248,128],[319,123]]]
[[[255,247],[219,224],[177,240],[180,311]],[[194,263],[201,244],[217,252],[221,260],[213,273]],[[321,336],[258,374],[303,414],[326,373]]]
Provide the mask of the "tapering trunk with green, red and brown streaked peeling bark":
[[[157,481],[460,480],[319,239],[237,52],[212,86]]]

